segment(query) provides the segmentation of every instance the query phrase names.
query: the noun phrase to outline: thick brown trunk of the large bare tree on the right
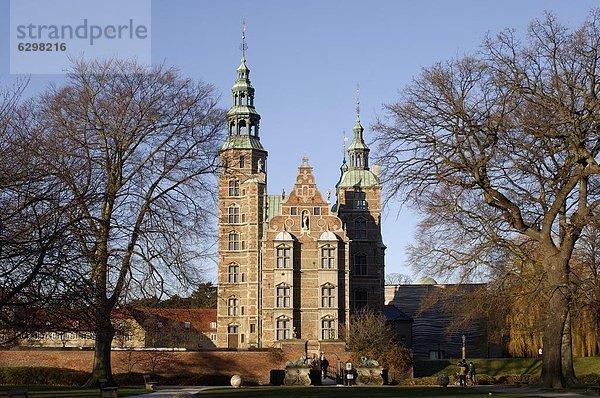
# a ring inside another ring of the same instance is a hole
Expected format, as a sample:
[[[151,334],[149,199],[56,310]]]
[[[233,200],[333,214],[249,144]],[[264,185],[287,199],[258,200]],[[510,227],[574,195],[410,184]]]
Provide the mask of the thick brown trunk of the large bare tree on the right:
[[[567,262],[568,260],[564,260],[556,254],[544,259],[544,269],[548,273],[550,299],[544,322],[544,353],[539,383],[546,388],[564,388],[566,386],[561,354],[568,302],[565,292],[561,289],[565,286],[565,264]]]

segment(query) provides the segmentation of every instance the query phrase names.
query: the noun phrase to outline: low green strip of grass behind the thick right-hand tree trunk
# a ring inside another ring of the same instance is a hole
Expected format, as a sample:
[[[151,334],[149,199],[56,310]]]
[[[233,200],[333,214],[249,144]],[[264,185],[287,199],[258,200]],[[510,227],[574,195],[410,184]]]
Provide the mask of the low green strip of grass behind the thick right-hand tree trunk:
[[[477,373],[493,377],[524,373],[539,375],[542,369],[542,360],[538,358],[475,358],[468,361],[473,361],[477,366]],[[457,362],[458,359],[417,360],[414,365],[415,377],[433,376],[442,371],[453,374],[457,370]],[[600,357],[575,358],[574,364],[577,375],[600,374]]]

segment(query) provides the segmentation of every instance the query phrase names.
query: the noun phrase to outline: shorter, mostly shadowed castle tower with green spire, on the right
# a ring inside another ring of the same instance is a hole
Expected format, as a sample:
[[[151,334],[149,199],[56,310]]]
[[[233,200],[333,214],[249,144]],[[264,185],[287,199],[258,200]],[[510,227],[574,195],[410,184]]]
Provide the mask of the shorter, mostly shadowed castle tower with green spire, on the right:
[[[383,311],[384,255],[381,236],[381,180],[369,167],[369,147],[363,139],[359,100],[354,137],[336,185],[338,217],[346,226],[349,243],[350,312],[368,306]]]

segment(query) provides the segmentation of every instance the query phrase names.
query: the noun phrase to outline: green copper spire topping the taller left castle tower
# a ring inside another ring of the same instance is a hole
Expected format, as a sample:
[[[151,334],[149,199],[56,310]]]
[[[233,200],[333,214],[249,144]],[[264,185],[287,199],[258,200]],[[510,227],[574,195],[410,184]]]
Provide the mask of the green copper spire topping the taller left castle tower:
[[[263,149],[259,135],[260,115],[254,108],[254,87],[246,65],[246,22],[242,25],[242,59],[237,80],[231,88],[233,104],[227,112],[227,139],[222,150],[231,148]]]

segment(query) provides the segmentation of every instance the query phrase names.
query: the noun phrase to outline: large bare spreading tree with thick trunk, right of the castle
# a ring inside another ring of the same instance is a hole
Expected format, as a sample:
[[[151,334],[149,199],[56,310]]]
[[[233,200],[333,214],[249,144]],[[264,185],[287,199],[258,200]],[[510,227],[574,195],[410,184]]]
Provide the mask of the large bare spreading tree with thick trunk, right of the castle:
[[[499,265],[499,241],[539,245],[548,387],[574,380],[563,335],[571,255],[599,217],[599,57],[600,12],[575,31],[547,15],[523,44],[505,31],[473,56],[423,70],[375,126],[391,194],[448,221],[424,230],[439,267],[468,279]]]

